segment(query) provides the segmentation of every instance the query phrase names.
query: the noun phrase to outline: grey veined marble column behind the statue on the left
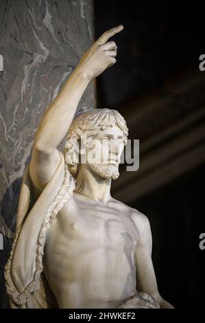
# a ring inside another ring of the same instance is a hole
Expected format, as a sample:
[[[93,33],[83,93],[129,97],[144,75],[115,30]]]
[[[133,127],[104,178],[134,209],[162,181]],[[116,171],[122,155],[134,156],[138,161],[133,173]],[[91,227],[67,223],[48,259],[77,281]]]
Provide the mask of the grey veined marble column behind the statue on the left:
[[[0,0],[0,307],[8,307],[3,268],[15,230],[22,175],[49,102],[93,42],[92,0]],[[93,109],[91,83],[80,109]],[[62,151],[64,142],[60,144]]]

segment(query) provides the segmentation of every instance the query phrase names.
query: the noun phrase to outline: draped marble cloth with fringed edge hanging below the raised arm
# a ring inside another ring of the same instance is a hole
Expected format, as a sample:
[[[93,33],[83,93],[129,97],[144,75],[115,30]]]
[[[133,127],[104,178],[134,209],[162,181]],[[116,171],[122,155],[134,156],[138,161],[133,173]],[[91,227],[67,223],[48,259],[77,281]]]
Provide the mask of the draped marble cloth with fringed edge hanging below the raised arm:
[[[58,153],[60,163],[35,202],[29,165],[25,168],[17,211],[16,237],[5,265],[5,285],[11,307],[47,307],[42,280],[46,234],[75,188],[64,156],[60,151]]]

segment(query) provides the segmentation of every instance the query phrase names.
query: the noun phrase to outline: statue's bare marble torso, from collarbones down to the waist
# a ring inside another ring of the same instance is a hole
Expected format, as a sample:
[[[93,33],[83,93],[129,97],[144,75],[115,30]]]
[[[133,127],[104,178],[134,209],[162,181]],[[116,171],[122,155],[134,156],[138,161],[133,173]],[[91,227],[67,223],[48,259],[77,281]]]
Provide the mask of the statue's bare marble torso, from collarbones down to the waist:
[[[60,308],[114,308],[136,293],[138,231],[130,208],[74,193],[45,243],[45,275]]]

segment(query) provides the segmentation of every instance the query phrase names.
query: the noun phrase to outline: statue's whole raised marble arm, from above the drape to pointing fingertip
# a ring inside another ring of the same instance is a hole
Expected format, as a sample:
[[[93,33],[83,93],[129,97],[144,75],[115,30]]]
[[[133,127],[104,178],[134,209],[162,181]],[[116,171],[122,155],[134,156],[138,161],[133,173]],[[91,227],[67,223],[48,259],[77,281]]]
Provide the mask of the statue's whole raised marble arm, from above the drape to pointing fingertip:
[[[121,32],[123,25],[108,30],[82,56],[58,96],[51,102],[34,138],[32,160],[29,172],[36,188],[42,190],[51,179],[60,161],[57,146],[69,130],[77,104],[88,83],[112,66],[117,55],[111,36]]]

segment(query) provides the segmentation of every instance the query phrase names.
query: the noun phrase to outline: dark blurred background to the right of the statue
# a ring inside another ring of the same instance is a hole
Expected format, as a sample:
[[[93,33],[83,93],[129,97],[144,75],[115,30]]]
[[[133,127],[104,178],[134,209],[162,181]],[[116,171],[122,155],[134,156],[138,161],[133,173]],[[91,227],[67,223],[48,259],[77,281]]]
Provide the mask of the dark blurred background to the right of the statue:
[[[95,1],[96,38],[124,25],[98,107],[119,110],[140,140],[139,170],[121,166],[112,196],[148,216],[158,288],[176,308],[205,304],[204,12],[197,1]]]

